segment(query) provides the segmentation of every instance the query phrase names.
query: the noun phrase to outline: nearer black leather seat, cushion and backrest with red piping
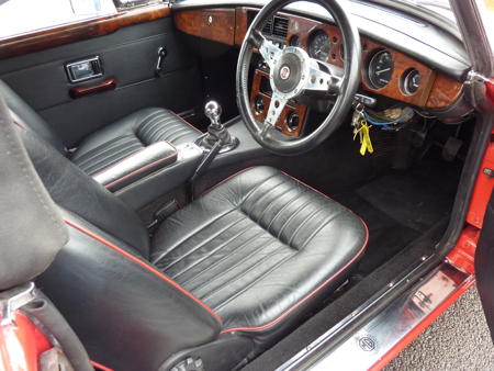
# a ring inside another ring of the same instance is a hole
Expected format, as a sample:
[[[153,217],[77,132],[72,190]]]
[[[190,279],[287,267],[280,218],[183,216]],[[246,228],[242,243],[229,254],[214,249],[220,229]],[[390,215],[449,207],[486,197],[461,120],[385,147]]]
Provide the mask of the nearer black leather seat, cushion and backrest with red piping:
[[[238,367],[321,306],[366,248],[357,215],[270,167],[225,179],[149,238],[116,196],[16,128],[69,229],[38,284],[106,367]]]

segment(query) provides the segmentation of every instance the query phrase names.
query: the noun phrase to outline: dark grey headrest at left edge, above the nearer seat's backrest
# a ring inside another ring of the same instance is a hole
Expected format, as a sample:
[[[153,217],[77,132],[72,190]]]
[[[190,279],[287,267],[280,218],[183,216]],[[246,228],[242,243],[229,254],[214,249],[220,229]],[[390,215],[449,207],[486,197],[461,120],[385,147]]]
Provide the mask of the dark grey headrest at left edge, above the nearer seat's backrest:
[[[67,243],[67,228],[0,97],[0,290],[34,279]]]

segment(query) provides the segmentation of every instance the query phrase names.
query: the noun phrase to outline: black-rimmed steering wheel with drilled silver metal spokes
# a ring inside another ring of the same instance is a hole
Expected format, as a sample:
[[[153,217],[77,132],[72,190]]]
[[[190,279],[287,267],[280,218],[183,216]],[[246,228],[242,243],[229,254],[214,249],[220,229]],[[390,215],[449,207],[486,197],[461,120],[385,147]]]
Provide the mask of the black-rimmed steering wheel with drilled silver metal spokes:
[[[308,0],[323,5],[339,27],[344,42],[345,67],[311,58],[301,47],[280,48],[267,40],[261,27],[285,5],[299,0],[271,0],[254,19],[242,44],[236,70],[237,105],[254,138],[265,148],[279,155],[296,155],[323,143],[345,120],[360,83],[360,36],[350,16],[338,0]],[[263,122],[257,122],[249,104],[248,75],[250,59],[258,49],[269,66],[272,89],[271,102]],[[311,134],[293,138],[276,130],[274,125],[289,100],[311,94],[335,98],[333,109]]]

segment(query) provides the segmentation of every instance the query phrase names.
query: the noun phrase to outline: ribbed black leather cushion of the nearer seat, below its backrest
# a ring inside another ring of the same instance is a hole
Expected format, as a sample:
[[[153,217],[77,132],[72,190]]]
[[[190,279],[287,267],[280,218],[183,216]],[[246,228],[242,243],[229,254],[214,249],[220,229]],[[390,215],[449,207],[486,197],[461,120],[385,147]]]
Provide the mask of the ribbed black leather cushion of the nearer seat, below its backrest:
[[[215,311],[223,333],[262,331],[335,290],[367,238],[346,207],[256,167],[165,221],[150,260]]]

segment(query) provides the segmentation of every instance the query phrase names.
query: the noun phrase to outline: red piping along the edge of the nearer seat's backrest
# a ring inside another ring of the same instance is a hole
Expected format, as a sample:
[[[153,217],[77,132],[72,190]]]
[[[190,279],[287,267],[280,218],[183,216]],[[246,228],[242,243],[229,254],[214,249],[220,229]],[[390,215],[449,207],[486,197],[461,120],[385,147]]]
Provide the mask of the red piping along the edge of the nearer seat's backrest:
[[[85,227],[75,224],[74,222],[70,221],[65,221],[65,223],[80,232],[82,232],[83,234],[88,235],[89,237],[96,239],[97,241],[105,245],[106,247],[110,247],[111,249],[115,250],[116,252],[123,255],[124,257],[126,257],[127,259],[131,259],[132,261],[134,261],[135,263],[139,265],[141,267],[143,267],[144,269],[147,269],[149,272],[151,272],[153,274],[159,277],[160,279],[162,279],[164,281],[166,281],[167,283],[171,284],[175,289],[177,289],[178,291],[180,291],[182,294],[189,296],[190,299],[192,299],[195,303],[198,303],[200,306],[202,306],[207,313],[210,313],[212,316],[214,316],[217,322],[220,324],[223,324],[223,319],[222,317],[220,317],[220,315],[214,312],[212,308],[210,308],[206,304],[204,304],[200,299],[198,299],[195,295],[193,295],[192,293],[190,293],[189,291],[187,291],[186,289],[183,289],[180,284],[178,284],[177,282],[175,282],[173,280],[171,280],[170,278],[166,277],[165,274],[162,274],[160,271],[156,270],[155,268],[153,268],[151,266],[145,263],[144,261],[142,261],[141,259],[137,259],[136,257],[134,257],[132,254],[128,254],[127,251],[121,249],[120,247],[117,247],[116,245],[110,243],[109,240],[104,239],[101,236],[98,236],[97,234],[86,229]]]

